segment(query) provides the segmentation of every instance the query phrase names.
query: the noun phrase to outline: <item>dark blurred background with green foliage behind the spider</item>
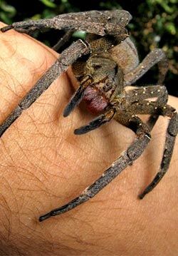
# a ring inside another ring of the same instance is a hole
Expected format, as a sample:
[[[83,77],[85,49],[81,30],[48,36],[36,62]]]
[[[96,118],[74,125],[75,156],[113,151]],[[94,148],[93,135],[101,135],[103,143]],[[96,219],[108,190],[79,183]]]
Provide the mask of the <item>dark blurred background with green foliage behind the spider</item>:
[[[90,0],[31,0],[0,1],[0,19],[7,24],[24,19],[43,19],[71,11],[90,11],[106,9],[125,9],[132,14],[128,30],[135,39],[140,60],[155,47],[162,48],[169,58],[169,71],[164,81],[169,94],[178,96],[178,31],[177,0],[146,1],[97,1]],[[36,33],[38,39],[52,46],[61,36],[60,31]],[[157,67],[147,73],[140,84],[152,84],[157,81]]]

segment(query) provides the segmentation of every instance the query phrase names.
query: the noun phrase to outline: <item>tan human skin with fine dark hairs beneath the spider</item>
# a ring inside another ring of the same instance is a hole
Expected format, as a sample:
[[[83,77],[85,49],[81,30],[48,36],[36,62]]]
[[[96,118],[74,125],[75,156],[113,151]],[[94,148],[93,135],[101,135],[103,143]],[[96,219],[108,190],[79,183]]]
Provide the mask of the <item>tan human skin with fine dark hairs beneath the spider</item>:
[[[0,43],[2,122],[58,54],[16,31],[1,33]],[[83,103],[63,118],[76,86],[69,68],[1,137],[0,255],[177,255],[177,143],[162,182],[137,199],[159,168],[163,117],[145,153],[95,198],[38,222],[93,183],[135,138],[116,121],[74,135],[93,118]],[[177,108],[177,98],[169,104]]]

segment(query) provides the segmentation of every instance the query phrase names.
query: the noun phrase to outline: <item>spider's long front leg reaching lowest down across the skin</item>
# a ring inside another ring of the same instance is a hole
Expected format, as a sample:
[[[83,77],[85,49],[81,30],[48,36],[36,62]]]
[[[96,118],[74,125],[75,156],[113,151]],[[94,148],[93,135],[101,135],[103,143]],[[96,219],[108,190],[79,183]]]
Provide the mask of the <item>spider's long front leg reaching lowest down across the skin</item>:
[[[46,215],[39,217],[39,221],[48,219],[49,217],[60,215],[62,213],[68,212],[78,205],[86,202],[90,198],[93,198],[97,193],[100,192],[108,183],[110,183],[114,178],[119,175],[122,170],[124,170],[133,160],[136,160],[140,157],[142,152],[145,150],[147,143],[150,141],[150,131],[147,126],[142,123],[140,118],[137,116],[126,116],[128,127],[135,131],[137,134],[137,139],[130,145],[127,150],[125,150],[114,163],[105,170],[103,175],[95,180],[95,182],[86,188],[83,193],[81,193],[77,198],[71,200],[66,205],[63,205],[60,208],[56,208]]]

